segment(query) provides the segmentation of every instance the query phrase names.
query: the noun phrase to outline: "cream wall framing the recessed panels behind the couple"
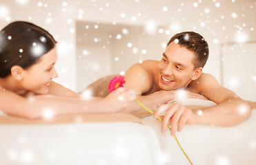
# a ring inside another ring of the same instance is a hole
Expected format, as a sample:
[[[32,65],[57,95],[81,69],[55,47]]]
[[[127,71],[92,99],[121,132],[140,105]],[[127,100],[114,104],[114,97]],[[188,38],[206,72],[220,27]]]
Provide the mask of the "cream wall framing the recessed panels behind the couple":
[[[236,41],[237,34],[245,34],[247,41],[256,41],[255,3],[253,0],[1,0],[0,28],[10,21],[26,20],[49,30],[59,41],[57,82],[75,91],[77,20],[130,25],[146,25],[148,21],[153,21],[156,25],[165,27],[166,41],[176,32],[199,32],[210,45],[210,57],[204,71],[213,74],[220,81],[220,44]],[[125,17],[121,17],[124,14]],[[166,30],[169,30],[167,34]],[[159,34],[158,29],[156,34]],[[159,54],[147,52],[147,55],[149,58],[159,59]],[[255,61],[255,58],[252,60]]]

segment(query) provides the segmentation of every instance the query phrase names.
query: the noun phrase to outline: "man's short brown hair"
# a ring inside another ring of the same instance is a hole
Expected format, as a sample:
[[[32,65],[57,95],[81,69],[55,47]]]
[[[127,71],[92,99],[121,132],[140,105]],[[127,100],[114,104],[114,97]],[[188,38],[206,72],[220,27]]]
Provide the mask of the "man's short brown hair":
[[[181,32],[175,34],[175,36],[170,39],[167,46],[175,41],[175,39],[177,39],[177,43],[181,47],[186,47],[186,49],[194,52],[194,69],[204,67],[209,56],[209,48],[203,36],[196,32]]]

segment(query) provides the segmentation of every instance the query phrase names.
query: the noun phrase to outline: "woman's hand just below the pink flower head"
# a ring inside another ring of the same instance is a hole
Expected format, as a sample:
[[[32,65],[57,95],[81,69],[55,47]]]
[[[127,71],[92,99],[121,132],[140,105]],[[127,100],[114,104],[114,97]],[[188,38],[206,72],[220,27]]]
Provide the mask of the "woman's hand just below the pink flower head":
[[[119,87],[102,100],[104,112],[115,113],[126,109],[129,102],[134,101],[135,98],[135,91]]]

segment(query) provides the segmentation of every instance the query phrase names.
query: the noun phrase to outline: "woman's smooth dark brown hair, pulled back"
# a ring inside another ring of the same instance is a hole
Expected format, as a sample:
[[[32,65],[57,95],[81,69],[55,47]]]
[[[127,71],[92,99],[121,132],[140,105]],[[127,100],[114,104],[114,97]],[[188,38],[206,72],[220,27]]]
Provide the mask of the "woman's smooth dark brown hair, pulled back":
[[[26,69],[35,64],[56,43],[49,32],[33,23],[10,23],[0,32],[0,78],[6,78],[14,65]]]

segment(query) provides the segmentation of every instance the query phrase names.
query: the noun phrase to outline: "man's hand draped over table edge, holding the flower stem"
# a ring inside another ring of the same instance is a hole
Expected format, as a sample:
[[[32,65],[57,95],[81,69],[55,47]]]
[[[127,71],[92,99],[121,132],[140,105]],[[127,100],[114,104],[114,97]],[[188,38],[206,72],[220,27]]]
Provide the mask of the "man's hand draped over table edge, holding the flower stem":
[[[166,131],[168,124],[171,126],[170,135],[175,135],[175,131],[181,131],[184,124],[192,125],[196,123],[196,115],[193,111],[181,104],[163,104],[155,111],[153,118],[157,119],[164,112],[164,116],[160,116],[163,120],[161,124],[161,131],[163,133]]]

